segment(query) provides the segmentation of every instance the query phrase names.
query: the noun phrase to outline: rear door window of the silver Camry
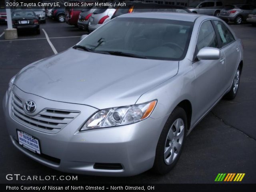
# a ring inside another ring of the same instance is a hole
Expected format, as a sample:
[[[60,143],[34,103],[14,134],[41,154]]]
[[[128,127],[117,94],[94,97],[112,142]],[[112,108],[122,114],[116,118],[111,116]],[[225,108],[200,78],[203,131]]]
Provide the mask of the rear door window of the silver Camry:
[[[222,22],[215,20],[214,24],[216,25],[217,31],[220,35],[220,41],[222,42],[222,46],[230,44],[235,40],[230,30],[228,30],[228,28]]]

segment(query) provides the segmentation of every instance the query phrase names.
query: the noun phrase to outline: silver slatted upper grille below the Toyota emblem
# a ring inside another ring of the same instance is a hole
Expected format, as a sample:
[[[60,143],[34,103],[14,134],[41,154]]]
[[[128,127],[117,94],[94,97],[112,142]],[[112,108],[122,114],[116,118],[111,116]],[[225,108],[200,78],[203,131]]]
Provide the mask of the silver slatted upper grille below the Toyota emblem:
[[[40,128],[43,132],[58,132],[70,123],[80,112],[68,110],[55,110],[46,108],[35,116],[28,116],[20,98],[12,94],[12,115],[20,122],[31,128]]]

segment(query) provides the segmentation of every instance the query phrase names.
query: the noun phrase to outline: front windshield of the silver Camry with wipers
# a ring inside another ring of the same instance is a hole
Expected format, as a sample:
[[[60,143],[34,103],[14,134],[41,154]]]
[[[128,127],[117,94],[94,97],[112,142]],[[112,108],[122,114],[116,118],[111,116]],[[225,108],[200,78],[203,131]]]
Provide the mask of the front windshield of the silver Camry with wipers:
[[[158,60],[184,58],[193,22],[154,18],[115,18],[78,45],[98,52],[122,52]]]

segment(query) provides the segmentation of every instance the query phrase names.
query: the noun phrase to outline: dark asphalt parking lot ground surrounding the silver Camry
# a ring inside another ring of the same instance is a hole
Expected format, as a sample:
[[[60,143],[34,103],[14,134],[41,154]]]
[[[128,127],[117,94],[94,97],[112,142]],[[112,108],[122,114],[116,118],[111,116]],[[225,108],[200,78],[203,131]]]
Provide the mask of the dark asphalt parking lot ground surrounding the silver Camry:
[[[245,173],[242,183],[256,183],[256,27],[232,25],[244,44],[244,67],[235,100],[221,100],[188,136],[175,168],[164,176],[150,171],[132,177],[78,176],[80,183],[214,183],[218,173]],[[17,40],[4,40],[0,26],[0,100],[8,82],[24,66],[62,52],[86,34],[74,26],[47,20],[41,34],[20,33]],[[46,38],[48,36],[48,38]],[[49,43],[50,41],[50,43]],[[52,44],[52,46],[50,46]],[[210,88],[210,85],[209,85]],[[207,91],[207,90],[206,90]],[[31,160],[10,141],[0,110],[0,183],[59,183],[61,181],[8,181],[6,174],[72,175]],[[72,181],[69,181],[72,182]],[[76,182],[76,181],[74,181]]]

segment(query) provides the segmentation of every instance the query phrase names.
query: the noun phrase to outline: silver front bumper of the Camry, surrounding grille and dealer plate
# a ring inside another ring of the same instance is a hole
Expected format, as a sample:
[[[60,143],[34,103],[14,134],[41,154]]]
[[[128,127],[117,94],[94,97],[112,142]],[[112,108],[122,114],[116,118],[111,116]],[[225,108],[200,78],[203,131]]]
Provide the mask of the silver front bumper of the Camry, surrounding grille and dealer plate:
[[[29,99],[36,102],[38,110],[50,106],[54,109],[80,111],[80,114],[59,132],[44,133],[14,118],[11,112],[12,99],[6,93],[3,108],[12,143],[37,162],[62,172],[100,176],[132,176],[152,168],[158,138],[167,117],[147,118],[130,125],[79,132],[86,119],[97,111],[96,108],[47,100],[25,93],[16,86],[13,86],[13,92],[22,102]],[[43,155],[36,155],[20,146],[17,141],[17,129],[38,138]],[[95,168],[95,163],[120,164],[122,167]]]

